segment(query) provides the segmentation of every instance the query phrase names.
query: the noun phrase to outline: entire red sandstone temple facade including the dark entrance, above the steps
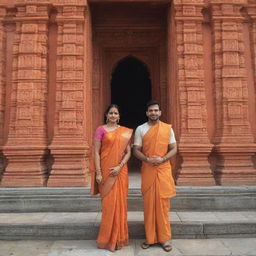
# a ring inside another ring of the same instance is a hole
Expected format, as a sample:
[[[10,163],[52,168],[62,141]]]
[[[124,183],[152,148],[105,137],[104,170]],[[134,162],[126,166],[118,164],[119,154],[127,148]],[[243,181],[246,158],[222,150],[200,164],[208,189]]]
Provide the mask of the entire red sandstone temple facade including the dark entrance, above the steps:
[[[0,0],[0,186],[88,186],[106,106],[151,98],[177,185],[255,185],[255,67],[255,0]]]

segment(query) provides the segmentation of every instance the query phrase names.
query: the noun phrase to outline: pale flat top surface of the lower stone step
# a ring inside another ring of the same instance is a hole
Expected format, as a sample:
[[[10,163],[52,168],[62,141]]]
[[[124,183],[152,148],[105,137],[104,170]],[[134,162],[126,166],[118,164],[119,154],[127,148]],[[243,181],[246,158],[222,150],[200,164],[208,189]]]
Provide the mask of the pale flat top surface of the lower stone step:
[[[255,222],[256,212],[191,212],[172,211],[171,222]],[[43,223],[85,223],[100,222],[101,212],[33,212],[33,213],[0,213],[0,224],[43,224]],[[143,212],[128,212],[128,221],[143,221]]]

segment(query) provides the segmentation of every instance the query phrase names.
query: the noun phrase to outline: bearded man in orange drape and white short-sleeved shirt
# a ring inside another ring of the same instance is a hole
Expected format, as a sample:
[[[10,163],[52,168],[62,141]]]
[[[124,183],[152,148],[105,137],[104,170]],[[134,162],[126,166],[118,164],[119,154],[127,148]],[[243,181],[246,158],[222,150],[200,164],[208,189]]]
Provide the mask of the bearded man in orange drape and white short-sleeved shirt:
[[[148,122],[137,127],[134,139],[134,155],[142,161],[141,191],[144,201],[144,225],[146,241],[143,249],[160,243],[167,252],[170,244],[170,197],[176,195],[171,173],[170,158],[177,152],[171,125],[159,120],[160,105],[157,101],[147,104]]]

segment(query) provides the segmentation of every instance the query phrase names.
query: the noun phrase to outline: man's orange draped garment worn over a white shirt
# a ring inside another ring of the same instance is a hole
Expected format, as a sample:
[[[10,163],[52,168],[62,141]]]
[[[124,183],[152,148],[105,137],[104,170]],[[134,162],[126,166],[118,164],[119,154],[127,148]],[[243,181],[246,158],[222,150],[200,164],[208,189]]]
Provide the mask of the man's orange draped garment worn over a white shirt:
[[[171,126],[159,121],[143,137],[142,151],[147,157],[164,156],[168,152]],[[169,221],[170,197],[176,195],[171,165],[142,164],[142,195],[144,224],[148,244],[165,243],[171,239]]]

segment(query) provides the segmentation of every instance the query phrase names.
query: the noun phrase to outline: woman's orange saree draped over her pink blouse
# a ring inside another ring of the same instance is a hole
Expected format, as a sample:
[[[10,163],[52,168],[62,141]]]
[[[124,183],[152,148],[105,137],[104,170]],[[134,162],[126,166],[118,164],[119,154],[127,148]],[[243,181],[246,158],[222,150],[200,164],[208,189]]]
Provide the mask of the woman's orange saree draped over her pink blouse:
[[[109,168],[120,164],[131,135],[132,130],[123,126],[106,133],[100,151],[103,184],[96,185],[95,172],[92,172],[92,193],[96,194],[98,189],[102,198],[97,247],[110,251],[128,245],[128,169],[124,165],[117,176],[110,176]]]

